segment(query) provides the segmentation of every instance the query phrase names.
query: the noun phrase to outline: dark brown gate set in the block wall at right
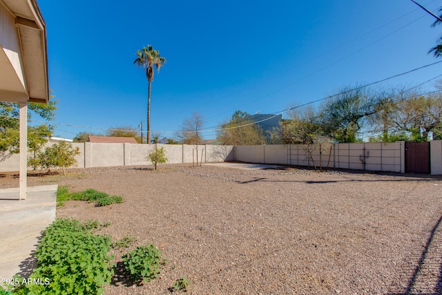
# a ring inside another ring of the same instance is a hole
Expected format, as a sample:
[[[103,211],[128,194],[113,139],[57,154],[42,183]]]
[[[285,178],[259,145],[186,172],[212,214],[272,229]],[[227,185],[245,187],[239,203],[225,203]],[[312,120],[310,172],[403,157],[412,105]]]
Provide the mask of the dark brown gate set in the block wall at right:
[[[405,172],[430,173],[430,142],[405,142]]]

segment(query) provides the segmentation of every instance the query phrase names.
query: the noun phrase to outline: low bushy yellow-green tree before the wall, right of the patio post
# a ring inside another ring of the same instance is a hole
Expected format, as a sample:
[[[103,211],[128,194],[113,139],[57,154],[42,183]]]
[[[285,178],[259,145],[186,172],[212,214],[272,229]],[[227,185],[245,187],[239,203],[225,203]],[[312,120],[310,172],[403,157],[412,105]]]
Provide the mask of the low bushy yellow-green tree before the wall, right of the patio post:
[[[39,151],[37,158],[28,159],[28,166],[39,166],[42,169],[48,169],[48,172],[51,168],[60,167],[66,175],[65,168],[77,163],[75,156],[79,153],[78,146],[74,148],[70,143],[59,142],[46,147],[44,151]]]

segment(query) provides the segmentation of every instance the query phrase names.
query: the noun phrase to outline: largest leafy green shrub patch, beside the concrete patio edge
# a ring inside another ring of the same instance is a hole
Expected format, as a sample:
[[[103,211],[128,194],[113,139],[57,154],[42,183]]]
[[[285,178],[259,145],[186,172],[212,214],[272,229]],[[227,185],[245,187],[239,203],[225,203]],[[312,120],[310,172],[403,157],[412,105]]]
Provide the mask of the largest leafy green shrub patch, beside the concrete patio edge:
[[[111,238],[91,232],[100,226],[93,220],[52,222],[35,252],[37,267],[30,274],[31,279],[44,278],[43,283],[12,294],[102,294],[104,284],[111,283],[112,257],[108,255]]]

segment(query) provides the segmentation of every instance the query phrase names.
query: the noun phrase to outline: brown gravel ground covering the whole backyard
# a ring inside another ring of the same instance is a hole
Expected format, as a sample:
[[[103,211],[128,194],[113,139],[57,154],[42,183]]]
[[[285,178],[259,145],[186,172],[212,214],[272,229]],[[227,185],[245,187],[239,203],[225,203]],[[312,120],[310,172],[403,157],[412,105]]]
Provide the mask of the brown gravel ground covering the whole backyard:
[[[70,201],[57,217],[111,222],[115,263],[152,243],[169,263],[131,285],[119,272],[104,294],[441,294],[442,178],[287,168],[213,166],[73,169],[30,175],[28,185],[68,185],[124,197],[108,207]],[[0,175],[0,187],[17,187]]]

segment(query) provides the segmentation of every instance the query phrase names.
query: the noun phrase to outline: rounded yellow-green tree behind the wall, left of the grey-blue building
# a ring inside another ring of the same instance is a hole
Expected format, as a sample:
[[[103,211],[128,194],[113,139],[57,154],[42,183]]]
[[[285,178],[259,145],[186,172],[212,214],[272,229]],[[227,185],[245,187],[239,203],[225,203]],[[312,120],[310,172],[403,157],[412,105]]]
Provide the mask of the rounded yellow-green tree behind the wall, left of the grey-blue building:
[[[265,135],[249,113],[236,111],[229,122],[222,124],[217,140],[227,145],[256,145],[265,144]]]

